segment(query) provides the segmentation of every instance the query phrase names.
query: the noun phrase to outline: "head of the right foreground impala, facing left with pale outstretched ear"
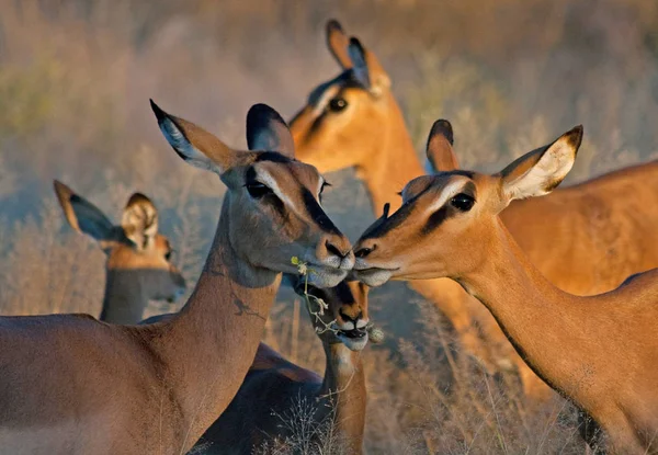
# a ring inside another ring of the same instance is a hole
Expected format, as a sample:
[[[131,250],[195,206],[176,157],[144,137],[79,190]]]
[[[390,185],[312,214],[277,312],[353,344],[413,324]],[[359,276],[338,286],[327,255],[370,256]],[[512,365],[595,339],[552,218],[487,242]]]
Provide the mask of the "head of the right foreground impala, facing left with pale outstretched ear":
[[[476,271],[502,228],[498,214],[513,200],[555,189],[571,169],[581,140],[577,126],[492,175],[453,170],[410,181],[402,206],[390,216],[385,209],[361,236],[354,249],[356,276],[377,286],[389,278],[457,280]],[[430,137],[432,144],[443,143]]]

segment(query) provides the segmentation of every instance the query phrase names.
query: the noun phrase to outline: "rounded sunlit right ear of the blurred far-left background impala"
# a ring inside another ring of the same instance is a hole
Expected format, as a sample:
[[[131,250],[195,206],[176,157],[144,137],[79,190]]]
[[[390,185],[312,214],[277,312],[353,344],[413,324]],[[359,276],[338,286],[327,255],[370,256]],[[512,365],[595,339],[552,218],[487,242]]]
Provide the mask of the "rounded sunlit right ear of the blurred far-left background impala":
[[[151,200],[135,193],[124,208],[121,227],[138,250],[150,248],[158,234],[158,209]]]

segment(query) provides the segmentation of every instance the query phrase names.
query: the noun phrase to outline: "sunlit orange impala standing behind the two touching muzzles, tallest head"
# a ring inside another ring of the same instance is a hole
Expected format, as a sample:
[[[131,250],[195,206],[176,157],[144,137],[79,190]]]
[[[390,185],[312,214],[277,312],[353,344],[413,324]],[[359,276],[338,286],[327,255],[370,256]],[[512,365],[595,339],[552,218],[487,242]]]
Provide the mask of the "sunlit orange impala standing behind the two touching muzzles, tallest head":
[[[291,122],[297,157],[320,172],[356,169],[376,216],[385,203],[399,207],[397,192],[423,175],[390,79],[372,52],[349,39],[336,21],[327,24],[329,50],[342,67],[318,86]],[[450,126],[450,125],[447,125]],[[457,168],[452,130],[436,136],[430,158],[439,170]],[[577,295],[611,291],[633,273],[658,266],[658,163],[649,162],[555,191],[547,197],[515,201],[500,214],[522,250],[552,283]],[[417,281],[411,287],[434,302],[452,321],[465,349],[488,359],[474,333],[477,320],[487,344],[511,356],[529,396],[547,388],[504,340],[494,318],[449,280]],[[494,353],[496,355],[496,353]],[[490,364],[489,364],[490,365]],[[489,366],[491,367],[491,365]]]

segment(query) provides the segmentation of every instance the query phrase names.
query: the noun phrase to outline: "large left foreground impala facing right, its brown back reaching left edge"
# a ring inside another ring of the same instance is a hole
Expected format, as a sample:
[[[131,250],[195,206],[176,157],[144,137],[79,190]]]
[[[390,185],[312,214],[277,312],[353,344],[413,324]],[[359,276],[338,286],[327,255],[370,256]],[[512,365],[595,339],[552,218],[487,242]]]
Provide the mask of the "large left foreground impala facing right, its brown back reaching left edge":
[[[249,111],[249,151],[238,151],[151,105],[177,153],[228,187],[204,270],[183,309],[158,323],[0,318],[7,453],[189,451],[242,384],[282,273],[298,273],[291,257],[314,269],[317,286],[338,285],[353,266],[348,239],[319,205],[324,180],[293,159],[275,111]]]

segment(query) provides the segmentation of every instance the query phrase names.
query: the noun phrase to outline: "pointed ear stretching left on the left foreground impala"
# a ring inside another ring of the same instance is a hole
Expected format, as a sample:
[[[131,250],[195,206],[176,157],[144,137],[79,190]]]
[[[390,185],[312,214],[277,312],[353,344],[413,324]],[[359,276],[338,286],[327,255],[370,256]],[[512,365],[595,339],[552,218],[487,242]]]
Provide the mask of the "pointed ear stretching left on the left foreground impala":
[[[154,100],[150,100],[150,104],[164,138],[190,164],[222,175],[241,161],[245,152],[232,150],[192,122],[166,113]]]

